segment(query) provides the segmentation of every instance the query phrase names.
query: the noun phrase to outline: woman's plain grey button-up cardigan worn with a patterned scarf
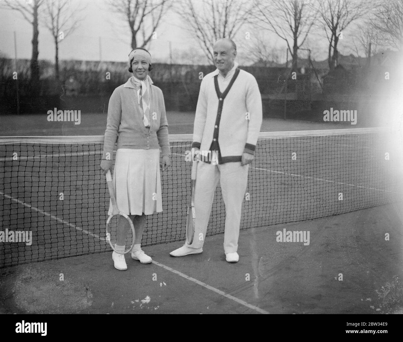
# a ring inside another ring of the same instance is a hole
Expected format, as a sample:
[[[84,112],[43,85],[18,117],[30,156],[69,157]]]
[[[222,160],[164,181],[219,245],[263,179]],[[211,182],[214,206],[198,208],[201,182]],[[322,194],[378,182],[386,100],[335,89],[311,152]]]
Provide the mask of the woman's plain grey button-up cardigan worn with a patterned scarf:
[[[162,90],[150,84],[150,129],[145,128],[137,101],[137,92],[130,79],[117,87],[108,106],[108,119],[104,137],[104,152],[110,153],[118,135],[117,149],[162,149],[162,155],[170,155],[168,122],[166,120]]]

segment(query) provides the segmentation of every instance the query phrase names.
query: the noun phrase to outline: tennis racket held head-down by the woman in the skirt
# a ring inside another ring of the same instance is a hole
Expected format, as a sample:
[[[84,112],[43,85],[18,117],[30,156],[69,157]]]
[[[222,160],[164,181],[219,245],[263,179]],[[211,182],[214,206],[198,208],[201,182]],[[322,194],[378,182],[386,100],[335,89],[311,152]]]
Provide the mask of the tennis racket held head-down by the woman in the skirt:
[[[106,173],[106,182],[108,183],[109,195],[112,200],[112,215],[106,221],[106,240],[116,253],[126,254],[131,251],[134,245],[133,222],[125,213],[119,211],[116,205],[110,170]]]

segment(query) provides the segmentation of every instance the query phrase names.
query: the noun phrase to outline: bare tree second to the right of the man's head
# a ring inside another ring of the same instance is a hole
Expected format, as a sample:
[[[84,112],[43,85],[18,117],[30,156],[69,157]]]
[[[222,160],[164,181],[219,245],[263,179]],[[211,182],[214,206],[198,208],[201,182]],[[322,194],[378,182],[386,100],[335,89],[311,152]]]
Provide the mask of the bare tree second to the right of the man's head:
[[[343,31],[353,21],[365,16],[369,8],[365,1],[357,0],[323,0],[319,4],[324,31],[329,42],[328,65],[330,70],[334,70],[339,58],[337,44],[343,37]]]

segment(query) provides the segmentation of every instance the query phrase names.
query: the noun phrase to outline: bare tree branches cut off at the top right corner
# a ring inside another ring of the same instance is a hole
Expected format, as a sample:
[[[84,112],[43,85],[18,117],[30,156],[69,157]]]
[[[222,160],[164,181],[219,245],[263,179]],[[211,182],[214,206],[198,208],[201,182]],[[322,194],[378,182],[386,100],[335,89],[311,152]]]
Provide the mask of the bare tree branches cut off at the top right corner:
[[[403,48],[403,0],[378,2],[372,29],[392,48]]]

